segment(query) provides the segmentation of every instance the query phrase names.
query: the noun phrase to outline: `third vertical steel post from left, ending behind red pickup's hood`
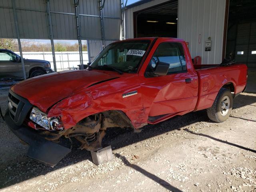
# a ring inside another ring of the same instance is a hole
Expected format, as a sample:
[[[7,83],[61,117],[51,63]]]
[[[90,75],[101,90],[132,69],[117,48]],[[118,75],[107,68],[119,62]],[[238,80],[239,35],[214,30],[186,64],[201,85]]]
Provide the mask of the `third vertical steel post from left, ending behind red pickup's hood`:
[[[77,39],[78,39],[78,46],[79,46],[80,64],[81,64],[81,69],[84,69],[82,41],[81,41],[81,27],[80,27],[80,18],[79,18],[79,0],[74,0],[74,3],[75,3],[76,32],[77,32]]]

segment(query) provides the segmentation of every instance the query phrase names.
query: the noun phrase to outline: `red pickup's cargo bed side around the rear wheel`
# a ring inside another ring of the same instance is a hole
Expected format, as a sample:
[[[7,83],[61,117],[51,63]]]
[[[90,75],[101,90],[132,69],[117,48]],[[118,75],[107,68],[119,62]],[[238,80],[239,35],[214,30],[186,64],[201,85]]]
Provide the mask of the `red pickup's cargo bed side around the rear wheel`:
[[[230,66],[196,65],[198,74],[198,102],[195,110],[202,110],[212,106],[221,86],[232,84],[231,92],[238,94],[246,86],[247,66],[232,64]]]

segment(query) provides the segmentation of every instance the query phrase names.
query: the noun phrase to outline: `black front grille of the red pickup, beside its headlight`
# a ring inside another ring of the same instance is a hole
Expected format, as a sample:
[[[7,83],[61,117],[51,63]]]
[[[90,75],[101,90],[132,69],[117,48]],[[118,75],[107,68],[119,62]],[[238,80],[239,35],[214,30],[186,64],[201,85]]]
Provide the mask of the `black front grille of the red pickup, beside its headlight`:
[[[21,125],[24,122],[31,107],[32,105],[30,104],[30,102],[28,102],[28,100],[9,90],[9,114],[16,125]]]

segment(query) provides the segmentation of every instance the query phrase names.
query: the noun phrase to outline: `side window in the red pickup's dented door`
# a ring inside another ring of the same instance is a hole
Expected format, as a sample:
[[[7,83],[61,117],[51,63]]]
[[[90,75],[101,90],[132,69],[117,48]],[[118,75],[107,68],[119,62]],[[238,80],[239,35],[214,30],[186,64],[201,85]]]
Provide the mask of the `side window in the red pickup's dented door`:
[[[182,73],[187,71],[186,59],[181,43],[161,43],[150,60],[147,73],[150,71],[153,72],[157,67],[158,62],[164,62],[170,65],[167,74]]]

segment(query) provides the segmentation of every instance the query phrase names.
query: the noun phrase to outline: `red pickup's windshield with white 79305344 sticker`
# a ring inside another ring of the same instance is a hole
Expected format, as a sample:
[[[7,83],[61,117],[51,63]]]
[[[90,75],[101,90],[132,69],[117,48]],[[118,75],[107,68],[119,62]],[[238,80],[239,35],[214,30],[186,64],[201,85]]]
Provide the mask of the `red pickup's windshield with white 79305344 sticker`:
[[[92,62],[90,68],[135,73],[149,44],[149,40],[132,40],[110,44]]]

